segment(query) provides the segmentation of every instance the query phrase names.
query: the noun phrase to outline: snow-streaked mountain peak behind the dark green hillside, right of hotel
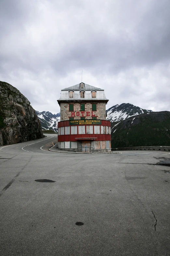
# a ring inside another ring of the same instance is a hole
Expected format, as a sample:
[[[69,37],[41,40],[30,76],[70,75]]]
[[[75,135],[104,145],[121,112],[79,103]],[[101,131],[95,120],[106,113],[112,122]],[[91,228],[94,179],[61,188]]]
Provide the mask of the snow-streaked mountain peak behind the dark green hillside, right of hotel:
[[[133,115],[145,114],[153,112],[152,110],[141,109],[130,103],[122,103],[120,105],[115,105],[108,110],[106,110],[106,120],[110,122],[117,122],[125,120]]]

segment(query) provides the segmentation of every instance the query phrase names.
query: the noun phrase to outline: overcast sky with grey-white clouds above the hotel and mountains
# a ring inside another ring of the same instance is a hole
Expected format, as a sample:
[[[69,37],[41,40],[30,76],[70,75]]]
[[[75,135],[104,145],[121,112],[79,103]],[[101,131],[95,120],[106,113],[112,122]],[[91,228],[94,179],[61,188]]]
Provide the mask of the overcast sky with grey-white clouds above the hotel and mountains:
[[[105,89],[107,108],[170,111],[169,0],[1,0],[0,80],[37,111],[61,89]]]

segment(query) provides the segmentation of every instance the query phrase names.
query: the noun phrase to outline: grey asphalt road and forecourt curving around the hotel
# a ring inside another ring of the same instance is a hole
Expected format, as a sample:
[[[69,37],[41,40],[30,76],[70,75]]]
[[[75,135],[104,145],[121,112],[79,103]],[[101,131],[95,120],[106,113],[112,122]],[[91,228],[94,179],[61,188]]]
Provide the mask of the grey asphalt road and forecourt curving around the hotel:
[[[44,151],[52,136],[0,148],[1,255],[170,255],[170,153]]]

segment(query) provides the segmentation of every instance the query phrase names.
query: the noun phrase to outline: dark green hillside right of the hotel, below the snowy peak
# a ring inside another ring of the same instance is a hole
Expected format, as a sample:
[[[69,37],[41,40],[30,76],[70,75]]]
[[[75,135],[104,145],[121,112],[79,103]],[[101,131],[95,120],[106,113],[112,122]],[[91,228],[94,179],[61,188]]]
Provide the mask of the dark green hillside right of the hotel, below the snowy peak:
[[[170,145],[170,112],[150,112],[111,124],[112,148]]]

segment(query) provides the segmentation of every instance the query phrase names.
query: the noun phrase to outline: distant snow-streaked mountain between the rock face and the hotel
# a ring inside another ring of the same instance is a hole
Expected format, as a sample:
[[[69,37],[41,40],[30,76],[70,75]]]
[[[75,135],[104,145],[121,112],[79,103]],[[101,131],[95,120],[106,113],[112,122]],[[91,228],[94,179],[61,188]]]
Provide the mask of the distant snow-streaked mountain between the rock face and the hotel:
[[[60,121],[60,113],[52,114],[49,111],[38,112],[35,111],[43,130],[54,130],[58,131],[58,122]]]

